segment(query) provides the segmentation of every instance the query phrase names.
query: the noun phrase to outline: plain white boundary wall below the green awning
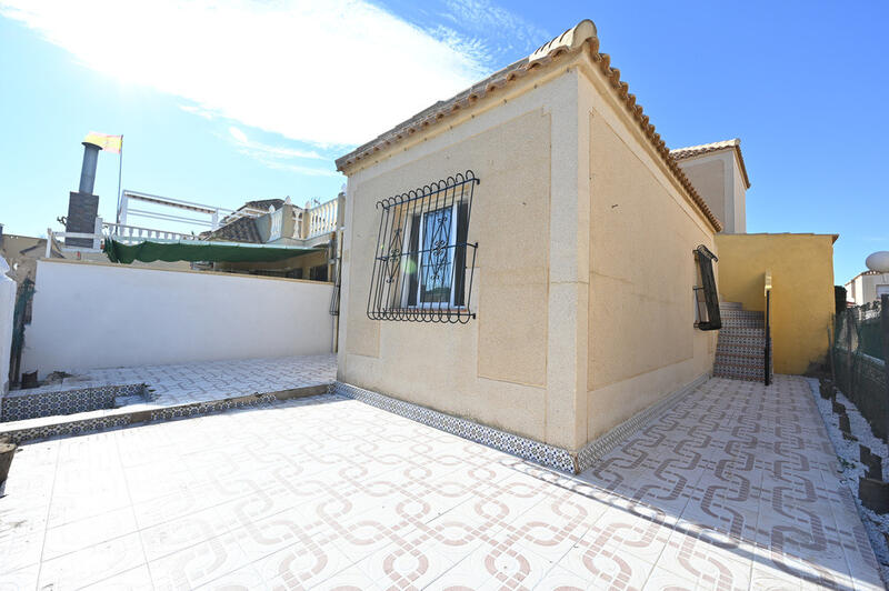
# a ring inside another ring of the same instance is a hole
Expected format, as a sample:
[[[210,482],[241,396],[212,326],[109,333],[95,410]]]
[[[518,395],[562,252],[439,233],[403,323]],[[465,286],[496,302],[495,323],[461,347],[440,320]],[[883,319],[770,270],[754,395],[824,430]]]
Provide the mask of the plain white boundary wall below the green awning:
[[[22,371],[330,353],[333,286],[41,260]]]

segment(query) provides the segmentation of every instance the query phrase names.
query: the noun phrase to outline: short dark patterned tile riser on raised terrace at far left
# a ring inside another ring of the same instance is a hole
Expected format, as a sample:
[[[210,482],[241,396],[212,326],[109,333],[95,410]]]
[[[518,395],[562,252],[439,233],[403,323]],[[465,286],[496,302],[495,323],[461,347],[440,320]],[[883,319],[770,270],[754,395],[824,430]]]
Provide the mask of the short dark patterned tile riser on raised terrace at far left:
[[[0,422],[112,409],[118,397],[146,397],[146,384],[100,385],[74,390],[16,390],[0,400]]]

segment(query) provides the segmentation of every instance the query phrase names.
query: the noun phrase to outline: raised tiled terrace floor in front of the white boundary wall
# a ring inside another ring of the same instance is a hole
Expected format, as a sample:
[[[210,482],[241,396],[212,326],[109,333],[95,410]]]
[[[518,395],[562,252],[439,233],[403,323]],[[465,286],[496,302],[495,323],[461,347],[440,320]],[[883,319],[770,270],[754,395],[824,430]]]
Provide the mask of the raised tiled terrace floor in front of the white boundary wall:
[[[28,392],[144,383],[153,390],[153,400],[142,401],[140,399],[123,407],[76,414],[0,422],[0,432],[32,429],[59,422],[110,418],[141,410],[212,402],[239,395],[292,390],[330,383],[336,378],[337,355],[333,353],[89,370],[72,378],[66,378],[61,382],[42,385]]]

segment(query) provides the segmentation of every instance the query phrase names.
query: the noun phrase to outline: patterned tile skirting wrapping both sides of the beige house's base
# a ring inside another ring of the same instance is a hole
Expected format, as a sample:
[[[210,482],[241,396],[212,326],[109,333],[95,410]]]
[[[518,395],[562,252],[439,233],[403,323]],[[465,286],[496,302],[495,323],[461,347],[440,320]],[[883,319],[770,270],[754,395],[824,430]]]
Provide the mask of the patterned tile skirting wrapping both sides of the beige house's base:
[[[599,439],[590,441],[581,448],[579,452],[541,443],[533,439],[508,433],[468,419],[452,417],[419,404],[404,402],[403,400],[364,390],[349,383],[334,382],[330,387],[330,392],[364,402],[378,409],[518,455],[519,458],[537,462],[548,468],[577,474],[591,467],[615,445],[635,433],[648,421],[676,404],[682,397],[696,390],[709,378],[708,374],[699,377],[660,402],[652,404],[615,427]]]

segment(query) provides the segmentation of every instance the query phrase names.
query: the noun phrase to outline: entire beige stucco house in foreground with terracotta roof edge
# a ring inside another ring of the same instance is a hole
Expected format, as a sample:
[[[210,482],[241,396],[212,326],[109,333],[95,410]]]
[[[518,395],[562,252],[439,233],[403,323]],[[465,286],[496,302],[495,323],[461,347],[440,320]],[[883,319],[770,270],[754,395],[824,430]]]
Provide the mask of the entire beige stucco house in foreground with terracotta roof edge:
[[[693,289],[722,226],[591,21],[337,167],[340,382],[581,469],[596,440],[712,370],[701,329],[718,303]]]

